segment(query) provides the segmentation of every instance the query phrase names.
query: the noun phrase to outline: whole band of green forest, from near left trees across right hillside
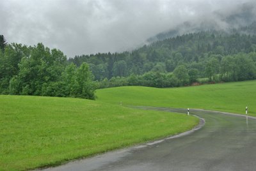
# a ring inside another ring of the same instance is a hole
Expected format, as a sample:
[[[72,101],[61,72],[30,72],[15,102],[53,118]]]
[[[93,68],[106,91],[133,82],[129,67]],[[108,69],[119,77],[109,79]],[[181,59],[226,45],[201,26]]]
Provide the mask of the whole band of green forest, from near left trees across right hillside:
[[[94,99],[95,89],[122,85],[178,87],[256,78],[256,22],[189,33],[132,52],[67,57],[38,43],[0,36],[0,93]]]

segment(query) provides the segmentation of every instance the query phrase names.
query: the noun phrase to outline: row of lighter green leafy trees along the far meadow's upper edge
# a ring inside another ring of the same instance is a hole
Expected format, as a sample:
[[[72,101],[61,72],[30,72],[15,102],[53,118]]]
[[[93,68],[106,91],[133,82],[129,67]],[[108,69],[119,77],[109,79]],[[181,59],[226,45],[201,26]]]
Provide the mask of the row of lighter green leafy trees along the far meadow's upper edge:
[[[205,62],[206,78],[196,68],[180,64],[173,72],[148,71],[143,75],[104,78],[97,81],[99,88],[140,85],[148,87],[179,87],[214,82],[234,82],[256,78],[256,52],[233,56],[212,56]]]

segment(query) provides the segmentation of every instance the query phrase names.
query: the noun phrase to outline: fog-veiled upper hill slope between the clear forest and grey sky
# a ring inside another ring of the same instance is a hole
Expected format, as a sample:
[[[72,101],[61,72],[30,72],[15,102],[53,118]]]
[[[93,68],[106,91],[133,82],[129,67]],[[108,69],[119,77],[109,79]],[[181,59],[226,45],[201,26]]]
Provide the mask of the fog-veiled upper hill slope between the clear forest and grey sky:
[[[256,19],[255,7],[256,2],[251,1],[237,4],[230,8],[216,10],[208,15],[202,15],[196,19],[188,20],[182,24],[173,26],[168,31],[156,34],[156,36],[148,38],[147,43],[199,31],[221,30],[230,33],[234,31],[234,29],[241,29],[241,27],[252,24]],[[250,31],[250,34],[252,34],[252,31]]]

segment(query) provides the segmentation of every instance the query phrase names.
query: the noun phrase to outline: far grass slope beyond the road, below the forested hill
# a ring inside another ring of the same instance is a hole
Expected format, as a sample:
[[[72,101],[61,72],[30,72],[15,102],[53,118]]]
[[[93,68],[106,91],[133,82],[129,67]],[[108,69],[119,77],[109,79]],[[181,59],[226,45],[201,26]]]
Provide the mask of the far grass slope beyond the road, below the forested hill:
[[[256,115],[256,81],[157,89],[115,87],[97,90],[98,101],[134,106],[204,108]],[[111,97],[111,98],[109,98]]]

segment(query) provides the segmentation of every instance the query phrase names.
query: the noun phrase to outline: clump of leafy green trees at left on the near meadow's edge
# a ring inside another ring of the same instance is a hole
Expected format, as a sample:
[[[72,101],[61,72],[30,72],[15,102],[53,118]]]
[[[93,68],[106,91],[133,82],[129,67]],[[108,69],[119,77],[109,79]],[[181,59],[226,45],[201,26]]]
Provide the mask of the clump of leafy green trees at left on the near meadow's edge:
[[[95,82],[88,64],[67,62],[57,49],[42,43],[28,47],[7,44],[0,50],[0,93],[95,99]]]

